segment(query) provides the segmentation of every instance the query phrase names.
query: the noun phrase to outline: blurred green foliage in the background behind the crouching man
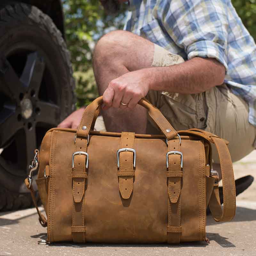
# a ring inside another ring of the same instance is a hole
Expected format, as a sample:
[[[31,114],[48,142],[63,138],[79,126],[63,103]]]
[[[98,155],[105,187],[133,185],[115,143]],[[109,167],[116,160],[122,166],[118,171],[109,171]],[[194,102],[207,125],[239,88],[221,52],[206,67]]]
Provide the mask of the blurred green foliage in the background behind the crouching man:
[[[106,32],[122,29],[124,10],[115,16],[106,15],[99,0],[62,0],[68,49],[75,70],[77,107],[98,96],[92,72],[92,51]],[[232,0],[245,27],[256,39],[256,0]]]

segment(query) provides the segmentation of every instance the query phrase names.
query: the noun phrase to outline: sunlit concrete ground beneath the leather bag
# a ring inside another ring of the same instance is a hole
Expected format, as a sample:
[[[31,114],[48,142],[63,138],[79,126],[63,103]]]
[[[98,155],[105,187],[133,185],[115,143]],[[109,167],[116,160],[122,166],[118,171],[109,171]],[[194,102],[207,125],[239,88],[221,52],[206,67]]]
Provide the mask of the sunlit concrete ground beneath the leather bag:
[[[234,164],[236,179],[251,174],[256,178],[256,150]],[[38,245],[46,239],[46,228],[41,227],[35,209],[0,212],[0,256],[27,255],[225,255],[256,256],[256,181],[237,196],[236,217],[227,223],[207,218],[206,243],[180,245],[150,244],[69,244]],[[42,208],[41,208],[42,209]]]

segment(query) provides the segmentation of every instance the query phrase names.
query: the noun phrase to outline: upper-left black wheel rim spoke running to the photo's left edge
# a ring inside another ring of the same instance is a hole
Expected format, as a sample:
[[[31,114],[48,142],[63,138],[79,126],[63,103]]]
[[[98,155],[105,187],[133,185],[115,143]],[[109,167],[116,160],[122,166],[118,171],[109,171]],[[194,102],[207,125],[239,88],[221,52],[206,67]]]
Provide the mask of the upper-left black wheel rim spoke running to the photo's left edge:
[[[3,67],[0,69],[1,90],[11,98],[18,98],[20,92],[26,91],[25,86],[20,82],[19,77],[12,68],[10,62],[4,58]]]

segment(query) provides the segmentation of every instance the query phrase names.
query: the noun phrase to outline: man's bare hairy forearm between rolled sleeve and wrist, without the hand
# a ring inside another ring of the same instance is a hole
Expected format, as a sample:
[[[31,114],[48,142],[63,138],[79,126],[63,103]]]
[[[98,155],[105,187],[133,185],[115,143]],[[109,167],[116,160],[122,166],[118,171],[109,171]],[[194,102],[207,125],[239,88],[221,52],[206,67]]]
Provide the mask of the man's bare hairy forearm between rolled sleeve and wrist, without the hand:
[[[179,65],[147,68],[150,89],[194,94],[223,84],[225,67],[212,58],[195,57]]]

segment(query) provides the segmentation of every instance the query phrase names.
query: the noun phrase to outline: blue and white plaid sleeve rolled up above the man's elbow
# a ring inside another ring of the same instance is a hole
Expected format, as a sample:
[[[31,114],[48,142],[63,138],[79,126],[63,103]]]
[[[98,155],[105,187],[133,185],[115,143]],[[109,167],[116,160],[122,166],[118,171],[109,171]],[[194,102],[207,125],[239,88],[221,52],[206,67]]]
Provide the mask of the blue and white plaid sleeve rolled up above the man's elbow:
[[[171,1],[165,17],[164,28],[184,48],[188,60],[215,58],[227,72],[228,10],[224,0]]]

